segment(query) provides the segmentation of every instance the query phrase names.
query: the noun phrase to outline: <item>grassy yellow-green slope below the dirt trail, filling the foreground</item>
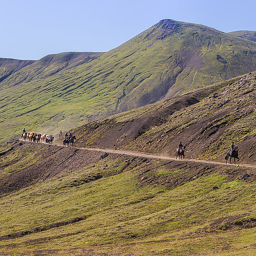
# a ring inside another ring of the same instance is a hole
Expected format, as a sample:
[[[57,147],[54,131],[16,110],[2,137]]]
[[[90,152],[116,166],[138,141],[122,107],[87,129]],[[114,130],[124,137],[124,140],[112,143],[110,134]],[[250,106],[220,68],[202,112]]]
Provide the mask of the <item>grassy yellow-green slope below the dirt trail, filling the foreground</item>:
[[[51,170],[37,170],[31,184],[24,176],[28,183],[16,191],[12,181],[12,193],[2,190],[3,255],[253,255],[253,169],[116,155],[100,159],[98,153],[47,145],[10,146],[13,150],[0,157],[2,177],[25,172],[28,177],[46,162]],[[12,164],[31,151],[38,162],[10,175]],[[52,157],[44,160],[50,152]],[[65,154],[70,154],[66,165]],[[93,160],[84,164],[81,157]],[[251,178],[238,180],[245,171]],[[214,186],[219,188],[212,190]]]

